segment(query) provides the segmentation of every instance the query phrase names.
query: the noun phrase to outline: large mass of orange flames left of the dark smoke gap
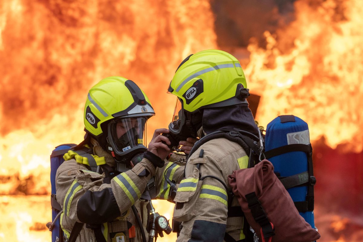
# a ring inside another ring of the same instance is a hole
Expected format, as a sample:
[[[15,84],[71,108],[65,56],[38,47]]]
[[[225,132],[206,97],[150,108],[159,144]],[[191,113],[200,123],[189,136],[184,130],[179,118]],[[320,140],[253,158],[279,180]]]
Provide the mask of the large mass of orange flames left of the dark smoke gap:
[[[42,239],[28,231],[50,221],[49,155],[82,140],[89,88],[111,75],[135,81],[157,114],[148,122],[152,137],[170,122],[175,99],[166,89],[175,68],[190,53],[216,48],[213,21],[208,0],[1,1],[0,194],[47,194],[40,196],[47,213],[4,211],[17,220],[0,223],[0,241],[49,241],[45,227]],[[171,217],[172,204],[155,207]]]

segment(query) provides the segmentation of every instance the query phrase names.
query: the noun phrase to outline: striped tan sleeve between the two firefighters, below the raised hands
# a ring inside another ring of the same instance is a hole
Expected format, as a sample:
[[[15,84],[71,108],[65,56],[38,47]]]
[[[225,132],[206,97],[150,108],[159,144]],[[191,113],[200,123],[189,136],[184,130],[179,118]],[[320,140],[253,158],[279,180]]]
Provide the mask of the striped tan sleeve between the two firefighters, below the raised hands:
[[[183,179],[186,160],[187,158],[185,155],[171,153],[169,159],[164,160],[164,167],[156,168],[155,185],[157,199],[164,199],[172,202],[171,198],[168,196],[170,185],[166,182],[165,176],[178,184]]]

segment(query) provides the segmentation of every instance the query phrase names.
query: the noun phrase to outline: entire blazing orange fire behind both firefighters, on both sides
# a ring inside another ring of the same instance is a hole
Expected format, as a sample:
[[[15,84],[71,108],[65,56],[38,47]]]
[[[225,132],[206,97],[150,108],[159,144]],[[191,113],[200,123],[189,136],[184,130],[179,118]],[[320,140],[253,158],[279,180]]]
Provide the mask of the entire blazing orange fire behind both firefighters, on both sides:
[[[312,141],[362,152],[363,3],[294,6],[295,20],[265,32],[264,48],[251,40],[243,60],[249,89],[262,97],[257,119],[266,127],[294,114],[309,124]],[[50,194],[49,154],[82,140],[87,90],[110,75],[134,80],[157,114],[148,123],[151,137],[170,122],[175,99],[166,88],[180,61],[217,48],[213,28],[208,0],[1,1],[0,202],[7,222],[0,222],[0,241],[49,238],[41,227],[50,220],[48,196],[7,195]],[[170,218],[172,205],[156,206]]]

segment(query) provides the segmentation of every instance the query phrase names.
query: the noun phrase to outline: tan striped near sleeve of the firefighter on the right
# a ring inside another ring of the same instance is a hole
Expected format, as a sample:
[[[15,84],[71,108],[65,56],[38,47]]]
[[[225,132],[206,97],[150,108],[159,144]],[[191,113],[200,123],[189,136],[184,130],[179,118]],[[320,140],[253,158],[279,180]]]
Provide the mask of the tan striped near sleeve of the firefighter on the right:
[[[199,157],[201,149],[203,157]],[[240,145],[221,138],[208,141],[189,157],[185,179],[178,185],[174,199],[173,218],[183,225],[178,242],[222,242],[226,231],[239,240],[242,223],[233,221],[236,225],[231,226],[227,218],[231,198],[228,175],[239,169],[238,159],[245,156]]]

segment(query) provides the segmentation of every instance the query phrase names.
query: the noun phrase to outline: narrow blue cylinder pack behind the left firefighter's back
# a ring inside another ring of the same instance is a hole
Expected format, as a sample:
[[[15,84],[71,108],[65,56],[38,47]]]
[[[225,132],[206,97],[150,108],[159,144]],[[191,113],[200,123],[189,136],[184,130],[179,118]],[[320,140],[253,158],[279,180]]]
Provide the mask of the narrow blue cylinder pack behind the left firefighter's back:
[[[59,217],[61,215],[61,206],[56,200],[56,172],[58,167],[63,163],[63,155],[67,153],[76,144],[62,144],[57,146],[50,155],[50,184],[52,185],[52,194],[50,195],[50,203],[52,205],[52,223],[47,226],[52,231],[52,242],[63,242],[64,234],[60,226]]]

